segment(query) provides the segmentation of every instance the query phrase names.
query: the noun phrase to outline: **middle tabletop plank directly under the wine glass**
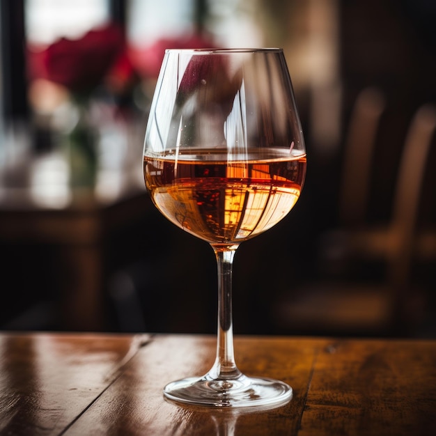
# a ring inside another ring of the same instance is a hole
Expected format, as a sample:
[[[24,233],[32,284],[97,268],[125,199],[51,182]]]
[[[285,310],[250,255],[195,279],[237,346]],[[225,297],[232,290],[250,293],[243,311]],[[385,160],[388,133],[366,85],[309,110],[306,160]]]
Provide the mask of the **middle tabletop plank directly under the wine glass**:
[[[212,336],[157,336],[120,377],[65,433],[66,435],[294,435],[297,433],[313,363],[324,340],[236,338],[235,355],[247,375],[288,382],[290,403],[274,410],[182,407],[165,400],[164,384],[203,375],[215,359]]]

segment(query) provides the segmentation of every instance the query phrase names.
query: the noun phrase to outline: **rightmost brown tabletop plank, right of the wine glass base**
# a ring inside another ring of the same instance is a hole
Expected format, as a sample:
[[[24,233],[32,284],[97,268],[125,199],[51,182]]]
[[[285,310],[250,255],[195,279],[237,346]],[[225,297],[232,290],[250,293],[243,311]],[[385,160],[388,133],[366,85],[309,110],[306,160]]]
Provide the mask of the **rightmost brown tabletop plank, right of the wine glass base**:
[[[436,343],[352,340],[324,348],[299,435],[436,435]]]

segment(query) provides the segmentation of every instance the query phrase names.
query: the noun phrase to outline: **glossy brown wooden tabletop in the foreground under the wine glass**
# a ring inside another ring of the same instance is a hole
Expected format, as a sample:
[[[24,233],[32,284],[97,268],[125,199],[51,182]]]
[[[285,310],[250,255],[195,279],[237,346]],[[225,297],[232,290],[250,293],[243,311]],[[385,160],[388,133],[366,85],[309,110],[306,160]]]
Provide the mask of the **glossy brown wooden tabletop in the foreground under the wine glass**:
[[[235,353],[293,399],[234,412],[165,400],[166,382],[212,366],[212,336],[3,332],[0,435],[436,435],[436,341],[244,336]]]

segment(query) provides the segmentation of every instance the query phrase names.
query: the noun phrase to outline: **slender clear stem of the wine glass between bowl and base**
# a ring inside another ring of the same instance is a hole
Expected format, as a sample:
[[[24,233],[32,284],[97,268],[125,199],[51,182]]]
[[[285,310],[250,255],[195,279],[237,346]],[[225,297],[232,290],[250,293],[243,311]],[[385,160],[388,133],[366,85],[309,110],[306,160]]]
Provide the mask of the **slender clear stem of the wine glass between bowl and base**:
[[[231,380],[242,373],[233,353],[232,270],[238,245],[212,245],[218,268],[218,334],[217,358],[208,375],[213,379]]]

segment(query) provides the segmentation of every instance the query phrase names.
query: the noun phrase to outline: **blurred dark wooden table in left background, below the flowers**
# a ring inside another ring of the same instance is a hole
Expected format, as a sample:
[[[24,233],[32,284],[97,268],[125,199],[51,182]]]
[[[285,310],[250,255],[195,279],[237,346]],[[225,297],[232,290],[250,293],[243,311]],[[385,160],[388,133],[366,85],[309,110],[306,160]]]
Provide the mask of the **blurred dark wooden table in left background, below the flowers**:
[[[54,299],[56,329],[104,331],[108,329],[103,308],[109,254],[123,253],[125,263],[130,260],[127,255],[134,256],[135,241],[140,238],[138,229],[152,208],[145,186],[128,185],[111,198],[100,198],[93,192],[74,194],[70,203],[54,208],[35,203],[30,189],[0,189],[0,260],[6,268],[2,286],[14,302],[19,302],[19,308],[31,299],[38,305],[40,295],[41,299]],[[112,240],[116,240],[113,249]],[[27,253],[29,247],[34,248],[31,252],[36,257]],[[15,256],[10,254],[12,248]],[[32,275],[26,266],[29,263],[38,265],[33,270],[48,277],[48,284],[42,286],[41,280],[34,277],[26,281]],[[115,267],[111,265],[111,269]],[[20,274],[24,278],[17,286]],[[22,292],[29,288],[30,295]],[[2,316],[22,318],[12,309],[12,304],[8,311],[0,308],[0,325],[4,323]]]

